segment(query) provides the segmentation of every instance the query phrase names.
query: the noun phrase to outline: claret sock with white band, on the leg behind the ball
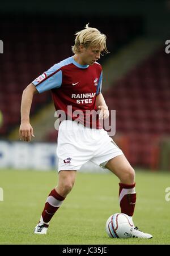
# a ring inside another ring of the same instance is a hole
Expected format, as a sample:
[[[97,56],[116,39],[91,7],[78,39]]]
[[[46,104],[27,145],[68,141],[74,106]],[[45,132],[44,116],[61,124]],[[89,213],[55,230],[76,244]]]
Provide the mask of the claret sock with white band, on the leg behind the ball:
[[[134,184],[123,184],[119,183],[119,202],[121,212],[126,215],[133,216],[135,203],[136,203],[136,192]]]

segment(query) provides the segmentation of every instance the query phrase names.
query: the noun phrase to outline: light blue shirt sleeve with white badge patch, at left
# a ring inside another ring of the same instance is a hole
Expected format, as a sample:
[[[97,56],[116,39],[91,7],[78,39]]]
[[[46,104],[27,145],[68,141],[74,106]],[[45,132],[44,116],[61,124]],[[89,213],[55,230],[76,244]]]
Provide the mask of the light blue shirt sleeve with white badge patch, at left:
[[[32,81],[33,85],[36,86],[39,93],[44,93],[54,88],[59,88],[62,85],[62,70],[55,64],[52,68],[37,77]]]

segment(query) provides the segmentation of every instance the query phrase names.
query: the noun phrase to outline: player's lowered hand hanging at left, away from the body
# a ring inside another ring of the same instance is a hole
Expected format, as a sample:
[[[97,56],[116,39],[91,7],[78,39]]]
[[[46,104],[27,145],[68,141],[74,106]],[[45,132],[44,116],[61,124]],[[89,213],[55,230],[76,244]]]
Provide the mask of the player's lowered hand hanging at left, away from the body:
[[[29,123],[21,123],[19,128],[19,139],[24,141],[31,141],[31,136],[33,135],[33,128]]]

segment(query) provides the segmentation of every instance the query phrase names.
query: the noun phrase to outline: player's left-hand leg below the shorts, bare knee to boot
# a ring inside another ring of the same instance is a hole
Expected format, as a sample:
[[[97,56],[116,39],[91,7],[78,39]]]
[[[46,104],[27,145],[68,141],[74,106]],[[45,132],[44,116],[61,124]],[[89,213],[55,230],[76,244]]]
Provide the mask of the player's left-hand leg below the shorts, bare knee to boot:
[[[76,171],[61,170],[59,171],[58,177],[58,186],[50,192],[48,198],[46,199],[40,222],[35,228],[35,234],[46,234],[49,226],[49,221],[52,219],[54,213],[56,213],[58,208],[61,206],[67,194],[69,194],[69,192],[73,188]]]

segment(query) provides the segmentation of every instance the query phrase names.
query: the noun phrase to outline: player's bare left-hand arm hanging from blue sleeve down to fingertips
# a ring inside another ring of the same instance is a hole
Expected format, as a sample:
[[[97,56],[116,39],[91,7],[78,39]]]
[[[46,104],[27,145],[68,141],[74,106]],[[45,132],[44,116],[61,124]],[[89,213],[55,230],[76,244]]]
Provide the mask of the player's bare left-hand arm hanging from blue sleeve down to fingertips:
[[[33,128],[29,123],[29,113],[31,109],[33,95],[38,91],[36,87],[30,83],[23,91],[22,102],[20,107],[21,113],[21,124],[19,128],[19,137],[20,140],[31,141],[31,136],[33,135]]]

